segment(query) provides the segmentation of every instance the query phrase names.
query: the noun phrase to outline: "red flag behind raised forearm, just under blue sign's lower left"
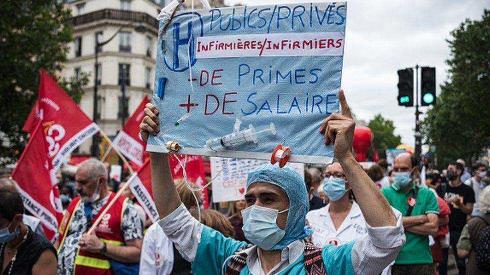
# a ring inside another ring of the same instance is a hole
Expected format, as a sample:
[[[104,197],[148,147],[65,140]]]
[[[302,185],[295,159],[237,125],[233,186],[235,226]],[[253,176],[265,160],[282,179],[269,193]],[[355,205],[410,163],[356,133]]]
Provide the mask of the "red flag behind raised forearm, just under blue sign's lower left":
[[[182,165],[180,165],[177,158],[179,158],[180,162],[185,166],[188,180],[193,181],[199,187],[206,185],[206,175],[204,174],[204,167],[202,166],[202,156],[169,155],[170,170],[172,171],[172,177],[174,179],[184,177],[184,169],[182,169]],[[204,209],[209,207],[207,192],[202,192],[202,207]]]

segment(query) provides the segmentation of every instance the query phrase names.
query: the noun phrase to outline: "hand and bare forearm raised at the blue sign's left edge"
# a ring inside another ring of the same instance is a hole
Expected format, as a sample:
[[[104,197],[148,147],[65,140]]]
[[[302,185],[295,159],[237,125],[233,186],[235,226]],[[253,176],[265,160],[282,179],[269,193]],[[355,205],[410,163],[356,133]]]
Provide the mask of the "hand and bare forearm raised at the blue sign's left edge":
[[[147,142],[149,135],[156,136],[160,131],[160,120],[157,117],[157,108],[151,103],[146,105],[145,115],[140,124],[140,132],[143,140]],[[150,152],[150,162],[153,198],[160,218],[164,218],[177,209],[181,201],[170,171],[168,154]]]

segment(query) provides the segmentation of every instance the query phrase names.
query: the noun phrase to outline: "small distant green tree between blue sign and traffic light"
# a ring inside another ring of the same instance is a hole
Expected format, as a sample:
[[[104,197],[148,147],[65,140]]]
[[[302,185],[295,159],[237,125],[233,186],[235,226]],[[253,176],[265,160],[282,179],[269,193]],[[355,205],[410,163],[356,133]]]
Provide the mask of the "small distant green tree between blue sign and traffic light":
[[[380,158],[386,158],[386,149],[395,148],[402,143],[402,137],[395,135],[393,120],[385,119],[381,114],[370,120],[368,127],[373,131],[373,146]],[[367,157],[373,159],[371,148],[367,152]]]

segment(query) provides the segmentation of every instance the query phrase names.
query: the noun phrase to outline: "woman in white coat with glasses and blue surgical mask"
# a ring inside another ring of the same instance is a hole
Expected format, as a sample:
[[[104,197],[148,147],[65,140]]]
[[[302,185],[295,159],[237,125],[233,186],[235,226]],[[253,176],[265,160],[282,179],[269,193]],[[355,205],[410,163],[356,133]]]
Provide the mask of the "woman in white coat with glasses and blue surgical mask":
[[[328,165],[323,177],[323,191],[329,203],[306,214],[313,229],[311,242],[319,247],[340,245],[366,234],[366,221],[359,205],[351,199],[350,185],[340,163]]]

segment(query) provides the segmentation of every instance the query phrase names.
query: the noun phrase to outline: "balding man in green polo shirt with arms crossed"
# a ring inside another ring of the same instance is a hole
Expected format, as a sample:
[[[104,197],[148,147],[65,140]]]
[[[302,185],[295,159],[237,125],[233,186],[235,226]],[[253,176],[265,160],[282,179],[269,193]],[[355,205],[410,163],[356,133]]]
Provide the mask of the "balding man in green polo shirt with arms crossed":
[[[381,188],[391,206],[403,214],[407,242],[393,264],[391,273],[432,275],[433,259],[429,235],[436,235],[439,205],[435,195],[418,186],[417,161],[409,153],[398,155],[393,162],[394,183]]]

